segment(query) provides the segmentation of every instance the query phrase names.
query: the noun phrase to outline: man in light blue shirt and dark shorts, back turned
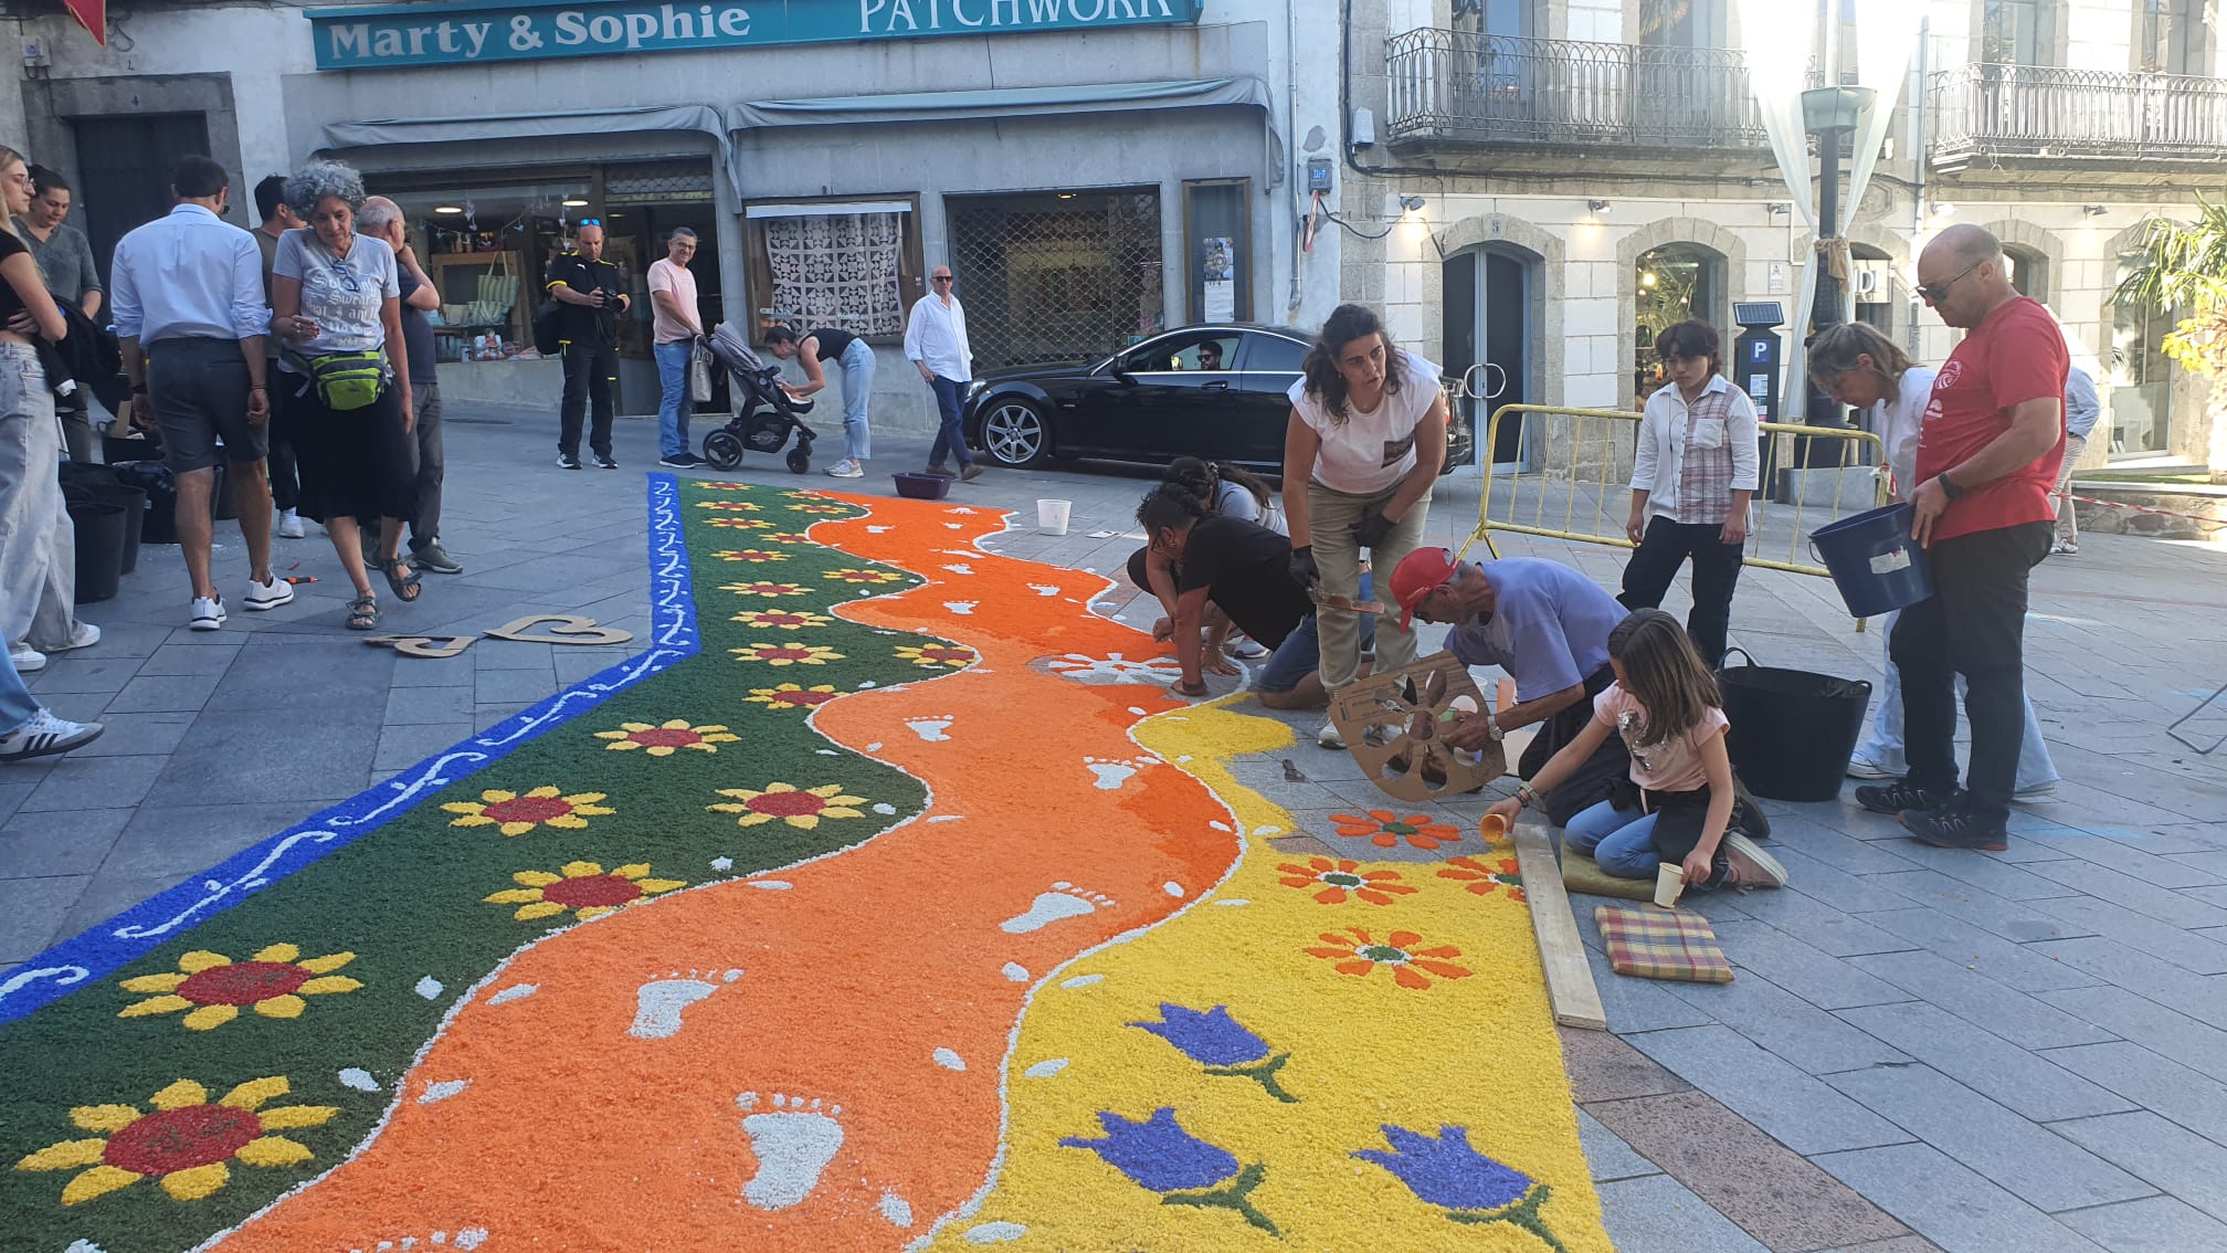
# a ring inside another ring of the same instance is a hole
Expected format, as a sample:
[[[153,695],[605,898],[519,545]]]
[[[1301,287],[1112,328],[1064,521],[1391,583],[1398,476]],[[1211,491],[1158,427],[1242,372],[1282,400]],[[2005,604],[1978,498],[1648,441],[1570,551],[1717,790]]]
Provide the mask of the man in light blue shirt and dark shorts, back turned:
[[[131,426],[160,428],[163,462],[178,486],[178,551],[194,582],[189,626],[225,624],[209,575],[216,441],[225,441],[241,535],[247,540],[247,609],[276,609],[294,589],[272,577],[272,497],[263,468],[269,392],[263,386],[263,250],[223,221],[232,194],[207,156],[178,161],[178,205],[116,243],[109,308],[131,377]]]

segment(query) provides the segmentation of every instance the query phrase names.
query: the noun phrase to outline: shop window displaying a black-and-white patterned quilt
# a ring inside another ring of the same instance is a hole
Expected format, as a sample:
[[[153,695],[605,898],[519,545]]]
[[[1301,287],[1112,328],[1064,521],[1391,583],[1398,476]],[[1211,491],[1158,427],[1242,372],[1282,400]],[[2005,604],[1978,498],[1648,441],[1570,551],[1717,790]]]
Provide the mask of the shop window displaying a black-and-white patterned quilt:
[[[750,205],[744,216],[759,328],[904,337],[904,310],[924,290],[913,201]]]

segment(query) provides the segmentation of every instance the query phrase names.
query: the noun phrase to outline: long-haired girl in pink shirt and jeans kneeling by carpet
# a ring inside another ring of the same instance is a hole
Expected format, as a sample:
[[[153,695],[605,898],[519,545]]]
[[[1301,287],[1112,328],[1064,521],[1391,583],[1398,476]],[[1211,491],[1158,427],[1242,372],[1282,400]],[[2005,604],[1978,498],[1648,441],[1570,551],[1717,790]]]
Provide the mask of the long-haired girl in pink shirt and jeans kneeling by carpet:
[[[1748,836],[1733,832],[1730,727],[1717,680],[1677,618],[1639,609],[1608,633],[1617,682],[1592,698],[1592,720],[1517,794],[1492,807],[1514,823],[1539,791],[1550,791],[1608,736],[1632,754],[1632,785],[1570,818],[1563,843],[1617,878],[1655,878],[1659,863],[1681,865],[1690,890],[1784,887],[1786,870]]]

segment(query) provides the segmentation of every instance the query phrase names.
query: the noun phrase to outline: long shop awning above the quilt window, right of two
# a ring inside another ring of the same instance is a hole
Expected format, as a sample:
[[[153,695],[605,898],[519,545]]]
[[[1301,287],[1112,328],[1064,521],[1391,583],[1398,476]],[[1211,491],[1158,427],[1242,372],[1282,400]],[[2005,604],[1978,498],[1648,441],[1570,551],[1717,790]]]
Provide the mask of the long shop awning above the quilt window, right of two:
[[[1203,105],[1254,105],[1267,109],[1267,85],[1258,78],[1178,78],[1165,82],[1076,82],[1065,87],[991,87],[982,91],[744,100],[728,107],[726,123],[730,129],[746,132],[762,127],[855,127],[871,123],[1116,114]]]

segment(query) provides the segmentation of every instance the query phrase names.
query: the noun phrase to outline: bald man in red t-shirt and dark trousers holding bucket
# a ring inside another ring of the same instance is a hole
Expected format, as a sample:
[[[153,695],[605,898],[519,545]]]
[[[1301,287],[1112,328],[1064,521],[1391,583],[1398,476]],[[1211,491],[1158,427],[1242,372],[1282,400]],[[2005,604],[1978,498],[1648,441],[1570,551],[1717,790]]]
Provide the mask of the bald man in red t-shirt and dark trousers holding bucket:
[[[2064,462],[2064,332],[2020,297],[2002,243],[1953,225],[1917,256],[1917,294],[1962,328],[1917,433],[1915,540],[1933,595],[1902,611],[1888,653],[1902,676],[1911,774],[1857,787],[1935,847],[2002,852],[2024,729],[2027,573],[2049,555]],[[1955,676],[1966,680],[1971,769],[1958,789]]]

